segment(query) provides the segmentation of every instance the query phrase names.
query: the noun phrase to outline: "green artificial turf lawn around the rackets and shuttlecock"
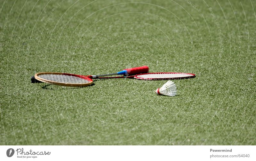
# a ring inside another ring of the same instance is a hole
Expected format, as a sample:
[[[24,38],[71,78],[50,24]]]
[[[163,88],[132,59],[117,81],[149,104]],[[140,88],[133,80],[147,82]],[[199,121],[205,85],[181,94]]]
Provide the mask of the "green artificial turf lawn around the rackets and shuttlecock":
[[[255,2],[91,2],[0,2],[1,145],[256,144]],[[143,65],[196,78],[30,83]]]

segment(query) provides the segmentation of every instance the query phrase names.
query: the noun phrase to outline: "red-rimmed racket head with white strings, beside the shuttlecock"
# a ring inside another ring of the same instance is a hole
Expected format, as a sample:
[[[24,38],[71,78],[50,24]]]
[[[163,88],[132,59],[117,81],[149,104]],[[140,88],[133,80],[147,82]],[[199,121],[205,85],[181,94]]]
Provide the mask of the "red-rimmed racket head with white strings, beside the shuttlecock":
[[[188,79],[196,77],[195,74],[191,73],[144,73],[137,74],[134,76],[134,79],[139,80],[174,80],[174,79]]]

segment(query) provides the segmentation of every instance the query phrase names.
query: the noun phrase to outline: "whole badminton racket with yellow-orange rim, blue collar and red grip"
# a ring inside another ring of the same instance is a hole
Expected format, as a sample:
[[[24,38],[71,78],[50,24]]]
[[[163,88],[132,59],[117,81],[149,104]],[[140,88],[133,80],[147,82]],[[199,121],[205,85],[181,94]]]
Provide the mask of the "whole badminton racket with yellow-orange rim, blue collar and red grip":
[[[109,75],[132,75],[138,73],[148,73],[148,66],[135,67],[124,69],[123,71],[112,73],[112,74],[102,74],[102,75],[76,75],[68,73],[56,73],[56,72],[42,72],[35,74],[35,77],[31,77],[31,83],[44,82],[60,86],[70,86],[70,87],[84,87],[90,86],[93,81],[92,79],[100,78]]]

